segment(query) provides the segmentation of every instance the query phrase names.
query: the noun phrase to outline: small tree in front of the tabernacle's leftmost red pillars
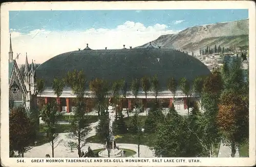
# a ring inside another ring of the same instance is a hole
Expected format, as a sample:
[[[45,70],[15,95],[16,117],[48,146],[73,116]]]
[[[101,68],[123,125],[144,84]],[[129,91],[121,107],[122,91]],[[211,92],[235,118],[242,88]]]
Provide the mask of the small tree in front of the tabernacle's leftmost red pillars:
[[[65,86],[65,80],[64,79],[59,79],[59,78],[54,78],[52,82],[52,89],[54,94],[57,96],[57,104],[58,104],[58,110],[61,111],[62,109],[60,108],[60,96],[63,92],[63,88]]]

